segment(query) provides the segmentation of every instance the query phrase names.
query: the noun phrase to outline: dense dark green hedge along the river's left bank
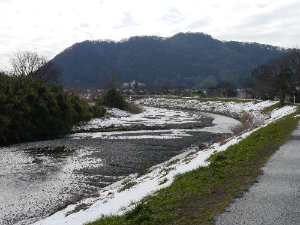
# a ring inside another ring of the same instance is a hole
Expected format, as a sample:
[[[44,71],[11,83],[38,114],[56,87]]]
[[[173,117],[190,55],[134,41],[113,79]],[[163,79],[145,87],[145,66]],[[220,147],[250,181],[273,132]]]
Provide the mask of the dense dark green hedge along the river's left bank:
[[[94,111],[105,113],[61,86],[0,73],[0,144],[66,134]]]

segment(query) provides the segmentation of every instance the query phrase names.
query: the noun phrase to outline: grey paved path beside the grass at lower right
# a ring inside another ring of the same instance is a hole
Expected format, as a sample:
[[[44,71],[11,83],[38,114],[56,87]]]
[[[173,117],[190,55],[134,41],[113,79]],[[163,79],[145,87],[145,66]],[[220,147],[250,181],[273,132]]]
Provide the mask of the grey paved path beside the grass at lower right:
[[[216,218],[216,225],[300,225],[300,123],[263,171],[258,183]]]

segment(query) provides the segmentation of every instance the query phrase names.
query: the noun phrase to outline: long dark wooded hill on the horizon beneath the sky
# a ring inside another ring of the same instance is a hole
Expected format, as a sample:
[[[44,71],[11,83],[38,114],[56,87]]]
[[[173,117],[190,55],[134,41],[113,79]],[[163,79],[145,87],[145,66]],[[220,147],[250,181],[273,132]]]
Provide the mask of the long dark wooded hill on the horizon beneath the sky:
[[[52,61],[63,69],[67,86],[94,86],[116,72],[122,82],[180,84],[206,88],[226,80],[241,85],[259,64],[283,50],[258,43],[221,42],[203,33],[178,33],[170,38],[84,41]]]

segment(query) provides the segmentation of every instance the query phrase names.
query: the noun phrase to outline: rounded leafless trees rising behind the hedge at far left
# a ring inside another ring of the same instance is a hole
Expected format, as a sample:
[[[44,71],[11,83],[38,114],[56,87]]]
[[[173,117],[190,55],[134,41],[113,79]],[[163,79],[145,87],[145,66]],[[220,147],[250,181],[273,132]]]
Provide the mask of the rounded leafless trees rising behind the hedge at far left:
[[[14,52],[10,58],[14,75],[28,76],[46,82],[58,82],[61,69],[48,61],[45,56],[31,51]]]

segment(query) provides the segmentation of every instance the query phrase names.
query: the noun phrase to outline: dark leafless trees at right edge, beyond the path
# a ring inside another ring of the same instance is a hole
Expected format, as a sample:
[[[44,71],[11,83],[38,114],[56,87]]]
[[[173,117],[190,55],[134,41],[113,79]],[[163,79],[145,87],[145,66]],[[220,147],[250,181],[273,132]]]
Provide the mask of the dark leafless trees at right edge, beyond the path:
[[[300,49],[290,49],[279,58],[256,67],[245,89],[255,98],[273,100],[277,97],[281,106],[289,96],[300,94]]]

